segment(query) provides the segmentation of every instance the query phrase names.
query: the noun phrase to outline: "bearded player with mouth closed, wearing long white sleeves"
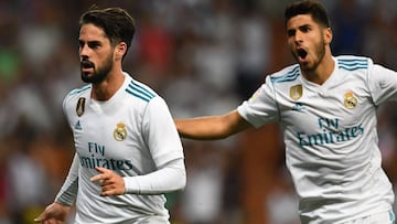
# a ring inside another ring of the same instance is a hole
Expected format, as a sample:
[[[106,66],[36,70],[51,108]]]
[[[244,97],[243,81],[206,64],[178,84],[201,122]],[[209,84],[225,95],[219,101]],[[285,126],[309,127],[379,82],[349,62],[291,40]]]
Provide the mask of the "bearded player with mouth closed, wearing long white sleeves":
[[[90,9],[79,21],[82,79],[63,109],[76,153],[55,201],[35,222],[170,223],[164,193],[182,190],[181,139],[165,102],[122,71],[135,34],[120,8]]]

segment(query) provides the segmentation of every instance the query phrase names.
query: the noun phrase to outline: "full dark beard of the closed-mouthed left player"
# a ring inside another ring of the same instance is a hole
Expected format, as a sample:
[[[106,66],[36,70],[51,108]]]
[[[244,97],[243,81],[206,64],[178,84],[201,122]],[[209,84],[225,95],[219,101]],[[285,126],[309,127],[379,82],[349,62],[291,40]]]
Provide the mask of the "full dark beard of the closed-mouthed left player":
[[[109,55],[103,66],[96,67],[94,63],[89,62],[88,60],[83,60],[81,63],[81,67],[92,67],[94,70],[94,73],[84,73],[82,71],[82,81],[85,83],[92,83],[92,84],[98,84],[105,81],[105,78],[108,76],[109,72],[112,68],[112,55]]]

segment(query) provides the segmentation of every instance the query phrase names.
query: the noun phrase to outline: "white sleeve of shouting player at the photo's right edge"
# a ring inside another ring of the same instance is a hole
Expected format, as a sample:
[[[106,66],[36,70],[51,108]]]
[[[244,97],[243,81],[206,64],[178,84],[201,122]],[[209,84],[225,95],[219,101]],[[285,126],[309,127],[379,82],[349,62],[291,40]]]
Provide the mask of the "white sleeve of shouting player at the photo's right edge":
[[[368,86],[376,106],[397,100],[397,72],[375,64],[368,72]]]

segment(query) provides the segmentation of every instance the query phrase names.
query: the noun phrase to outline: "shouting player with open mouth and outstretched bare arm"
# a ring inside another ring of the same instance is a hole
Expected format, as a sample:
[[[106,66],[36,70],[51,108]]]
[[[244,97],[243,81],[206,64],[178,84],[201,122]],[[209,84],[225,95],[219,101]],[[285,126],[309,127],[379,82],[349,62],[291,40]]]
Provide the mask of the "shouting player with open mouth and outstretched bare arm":
[[[230,113],[175,119],[180,135],[222,139],[279,122],[303,224],[394,223],[376,109],[397,100],[397,73],[368,57],[333,56],[329,17],[319,1],[289,4],[285,28],[297,64],[267,76]]]

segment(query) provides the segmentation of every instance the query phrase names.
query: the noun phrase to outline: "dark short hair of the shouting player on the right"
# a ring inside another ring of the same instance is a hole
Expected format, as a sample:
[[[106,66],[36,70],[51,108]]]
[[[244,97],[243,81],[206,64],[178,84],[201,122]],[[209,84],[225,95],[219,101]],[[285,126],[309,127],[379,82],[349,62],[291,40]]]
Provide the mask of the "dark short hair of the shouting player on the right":
[[[303,0],[290,3],[285,11],[285,25],[299,14],[310,14],[312,19],[324,28],[330,28],[331,22],[323,4],[318,0]]]

